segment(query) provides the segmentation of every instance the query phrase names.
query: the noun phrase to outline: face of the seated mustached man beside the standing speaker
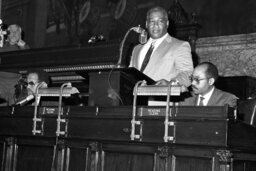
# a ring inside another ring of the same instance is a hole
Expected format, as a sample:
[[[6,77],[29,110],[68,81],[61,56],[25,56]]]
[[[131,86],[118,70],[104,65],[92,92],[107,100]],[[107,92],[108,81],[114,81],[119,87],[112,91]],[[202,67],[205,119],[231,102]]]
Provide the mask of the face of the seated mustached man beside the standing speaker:
[[[195,94],[205,95],[213,86],[212,80],[205,75],[205,70],[204,66],[198,66],[193,71],[191,85]]]

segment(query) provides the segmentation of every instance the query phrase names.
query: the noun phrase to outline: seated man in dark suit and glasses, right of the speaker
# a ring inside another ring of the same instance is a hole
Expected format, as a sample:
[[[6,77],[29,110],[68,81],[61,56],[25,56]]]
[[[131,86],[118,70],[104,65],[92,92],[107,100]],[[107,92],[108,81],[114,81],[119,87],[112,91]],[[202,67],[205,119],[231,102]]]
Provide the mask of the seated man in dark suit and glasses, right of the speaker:
[[[199,64],[191,76],[191,97],[181,105],[190,106],[237,106],[237,97],[231,93],[217,89],[214,83],[218,79],[218,69],[210,62]],[[202,99],[202,101],[200,100]],[[201,101],[201,102],[200,102]]]

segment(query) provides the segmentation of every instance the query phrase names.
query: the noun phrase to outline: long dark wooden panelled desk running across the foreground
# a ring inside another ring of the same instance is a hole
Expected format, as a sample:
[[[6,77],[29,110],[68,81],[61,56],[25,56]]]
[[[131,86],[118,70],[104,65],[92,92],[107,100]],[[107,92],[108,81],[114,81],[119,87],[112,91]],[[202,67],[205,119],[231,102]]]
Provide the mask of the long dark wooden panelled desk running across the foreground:
[[[56,137],[56,108],[40,108],[43,119],[32,135],[33,107],[1,108],[2,170],[248,171],[256,169],[256,128],[234,120],[226,107],[172,109],[164,135],[164,108],[138,108],[131,140],[132,107],[64,107]],[[152,112],[153,111],[153,112]],[[140,113],[140,114],[139,114]],[[153,114],[153,115],[152,115]],[[53,164],[52,164],[53,163]]]

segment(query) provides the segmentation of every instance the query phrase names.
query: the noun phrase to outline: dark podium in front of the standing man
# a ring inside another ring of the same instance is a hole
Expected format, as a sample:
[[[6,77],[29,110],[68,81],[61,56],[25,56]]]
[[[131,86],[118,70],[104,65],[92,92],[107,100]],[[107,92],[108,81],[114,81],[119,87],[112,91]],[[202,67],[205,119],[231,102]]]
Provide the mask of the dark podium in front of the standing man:
[[[78,73],[86,77],[86,73]],[[89,106],[122,106],[133,104],[133,88],[140,80],[154,80],[135,68],[115,68],[89,72]]]

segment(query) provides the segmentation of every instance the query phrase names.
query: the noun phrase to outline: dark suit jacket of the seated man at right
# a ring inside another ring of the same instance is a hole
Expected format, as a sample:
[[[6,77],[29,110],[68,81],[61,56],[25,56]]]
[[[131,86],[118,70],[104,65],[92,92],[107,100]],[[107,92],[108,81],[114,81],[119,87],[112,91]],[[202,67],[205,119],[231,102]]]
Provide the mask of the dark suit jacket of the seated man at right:
[[[191,95],[186,98],[184,102],[181,102],[182,106],[196,106],[198,101],[198,95]],[[212,96],[210,97],[207,106],[224,106],[228,105],[230,107],[237,106],[237,97],[231,93],[222,91],[215,88]]]

